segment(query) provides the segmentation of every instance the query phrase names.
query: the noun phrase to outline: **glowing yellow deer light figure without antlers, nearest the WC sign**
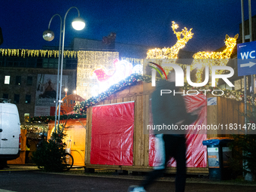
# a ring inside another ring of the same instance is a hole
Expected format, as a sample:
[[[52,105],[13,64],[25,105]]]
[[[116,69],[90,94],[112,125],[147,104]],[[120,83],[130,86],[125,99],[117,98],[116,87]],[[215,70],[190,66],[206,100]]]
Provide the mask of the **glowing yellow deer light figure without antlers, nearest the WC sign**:
[[[238,38],[238,34],[235,35],[234,38],[230,38],[228,35],[226,35],[225,38],[225,44],[226,48],[222,52],[198,52],[195,53],[193,58],[193,62],[191,64],[190,70],[197,69],[197,83],[202,82],[202,73],[203,69],[206,68],[206,66],[212,67],[212,66],[227,66],[227,62],[230,59],[230,56],[233,52],[233,48],[236,46],[236,39]],[[217,74],[221,74],[224,70],[218,70]],[[216,83],[218,82],[218,79],[216,80]]]

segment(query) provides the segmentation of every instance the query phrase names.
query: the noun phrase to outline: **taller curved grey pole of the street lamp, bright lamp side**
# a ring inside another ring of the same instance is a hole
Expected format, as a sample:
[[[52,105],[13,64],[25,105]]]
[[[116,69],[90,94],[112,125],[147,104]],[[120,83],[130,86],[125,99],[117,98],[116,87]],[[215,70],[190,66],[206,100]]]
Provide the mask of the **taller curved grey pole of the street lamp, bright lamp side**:
[[[72,7],[76,8],[76,7]],[[69,11],[72,9],[69,8],[69,10],[66,12],[64,21],[63,21],[63,31],[62,31],[62,51],[61,51],[61,66],[60,66],[60,81],[59,81],[59,114],[58,114],[58,133],[59,133],[59,118],[60,118],[60,105],[62,103],[62,71],[63,71],[63,58],[64,58],[64,40],[65,40],[65,28],[66,28],[66,17]],[[78,8],[76,8],[78,10]],[[80,12],[78,10],[78,17],[80,17]]]

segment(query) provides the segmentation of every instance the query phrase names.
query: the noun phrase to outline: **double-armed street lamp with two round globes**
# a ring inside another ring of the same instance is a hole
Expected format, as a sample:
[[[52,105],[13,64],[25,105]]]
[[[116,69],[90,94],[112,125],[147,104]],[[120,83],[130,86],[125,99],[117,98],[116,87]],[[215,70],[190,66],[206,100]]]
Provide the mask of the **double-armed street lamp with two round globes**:
[[[60,103],[62,102],[62,98],[61,98],[61,92],[62,92],[62,70],[63,70],[63,57],[64,57],[64,40],[65,40],[65,28],[66,28],[66,17],[67,14],[69,13],[69,11],[75,8],[78,11],[78,17],[75,18],[75,20],[72,21],[72,27],[76,30],[81,30],[84,29],[85,26],[85,22],[84,20],[80,17],[80,12],[78,10],[78,8],[76,7],[71,7],[69,8],[69,10],[66,12],[65,17],[64,17],[64,21],[63,21],[63,29],[62,29],[62,17],[59,14],[55,14],[53,15],[53,17],[55,16],[59,16],[60,18],[60,32],[59,32],[59,59],[58,59],[58,74],[57,74],[57,85],[56,85],[56,108],[55,108],[55,130],[54,132],[56,133],[56,119],[57,119],[57,114],[58,114],[58,133],[59,133],[59,118],[60,118]],[[43,33],[43,38],[46,41],[52,41],[54,38],[54,32],[50,30],[50,23],[53,20],[53,17],[50,18],[50,22],[48,25],[48,29],[46,31],[44,31]],[[62,41],[61,41],[62,38]],[[60,47],[62,44],[62,50],[60,51]],[[60,54],[61,53],[61,54]],[[57,112],[57,108],[59,105],[59,113]]]

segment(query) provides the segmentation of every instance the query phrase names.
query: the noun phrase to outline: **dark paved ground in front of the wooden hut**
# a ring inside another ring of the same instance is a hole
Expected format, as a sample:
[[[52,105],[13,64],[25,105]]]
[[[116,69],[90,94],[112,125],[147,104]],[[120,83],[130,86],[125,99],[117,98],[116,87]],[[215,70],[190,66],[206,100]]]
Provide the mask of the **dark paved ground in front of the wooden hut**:
[[[45,173],[36,166],[11,165],[0,171],[0,191],[126,191],[139,184],[142,175],[113,175],[113,172],[85,174],[84,169],[63,173]],[[148,191],[175,191],[174,177],[160,178]],[[2,190],[1,190],[2,189]],[[256,191],[255,183],[209,181],[209,178],[188,177],[186,191]]]

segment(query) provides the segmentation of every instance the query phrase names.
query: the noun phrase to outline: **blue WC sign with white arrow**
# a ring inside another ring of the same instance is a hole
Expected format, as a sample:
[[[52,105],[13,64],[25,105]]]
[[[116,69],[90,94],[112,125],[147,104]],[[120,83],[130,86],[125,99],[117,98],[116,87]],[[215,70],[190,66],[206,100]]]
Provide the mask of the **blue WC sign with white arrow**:
[[[238,76],[256,74],[256,41],[237,44]]]

